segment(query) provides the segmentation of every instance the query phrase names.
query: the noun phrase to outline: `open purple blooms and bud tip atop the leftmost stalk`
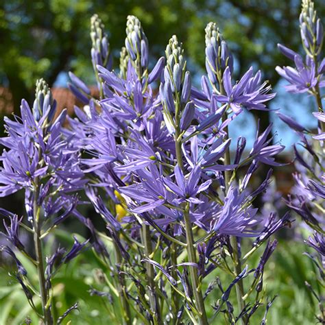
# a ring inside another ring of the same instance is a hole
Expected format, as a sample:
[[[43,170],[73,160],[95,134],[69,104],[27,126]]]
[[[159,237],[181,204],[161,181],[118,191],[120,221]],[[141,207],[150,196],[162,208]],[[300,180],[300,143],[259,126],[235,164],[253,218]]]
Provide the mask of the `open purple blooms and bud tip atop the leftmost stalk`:
[[[44,80],[37,82],[36,104],[32,115],[26,101],[21,103],[21,119],[6,119],[8,137],[1,143],[3,150],[0,160],[0,195],[6,196],[20,189],[34,191],[36,179],[49,174],[52,185],[60,191],[80,189],[86,182],[79,167],[77,149],[62,136],[62,125],[67,110],[53,121],[56,103]]]

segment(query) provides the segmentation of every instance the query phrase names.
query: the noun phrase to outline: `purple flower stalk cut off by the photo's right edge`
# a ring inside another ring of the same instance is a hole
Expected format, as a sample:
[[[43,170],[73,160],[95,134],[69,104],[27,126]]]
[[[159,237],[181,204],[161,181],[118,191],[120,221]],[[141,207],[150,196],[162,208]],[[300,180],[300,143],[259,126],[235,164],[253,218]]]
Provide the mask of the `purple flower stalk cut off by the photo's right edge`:
[[[324,39],[322,21],[317,17],[313,1],[302,1],[302,12],[300,14],[300,32],[302,45],[306,54],[306,63],[302,57],[291,49],[279,45],[280,51],[293,60],[296,69],[277,67],[278,73],[290,82],[287,90],[292,93],[308,92],[315,98],[318,112],[313,116],[317,119],[317,134],[306,130],[302,125],[294,121],[291,117],[279,114],[280,119],[287,123],[301,139],[300,146],[294,145],[296,154],[296,169],[293,174],[295,185],[291,195],[287,199],[287,206],[295,211],[306,222],[313,237],[306,240],[307,245],[314,248],[319,254],[317,256],[308,254],[317,265],[320,276],[317,279],[324,286],[325,267],[325,237],[324,237],[324,208],[325,208],[325,115],[322,103],[322,88],[325,87],[325,58],[322,55],[322,45]],[[302,152],[303,149],[304,151]],[[317,315],[319,322],[325,322],[324,306],[322,305],[322,293],[317,293],[310,286],[309,289],[317,298],[320,304],[320,315]]]

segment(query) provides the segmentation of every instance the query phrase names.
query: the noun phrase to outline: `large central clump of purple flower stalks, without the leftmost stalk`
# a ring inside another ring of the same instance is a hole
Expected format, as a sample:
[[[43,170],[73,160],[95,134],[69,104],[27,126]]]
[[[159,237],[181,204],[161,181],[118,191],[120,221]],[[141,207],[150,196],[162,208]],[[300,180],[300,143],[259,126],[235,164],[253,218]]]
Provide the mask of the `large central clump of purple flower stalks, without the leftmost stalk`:
[[[289,220],[275,213],[263,218],[253,204],[267,189],[272,170],[257,187],[251,179],[261,165],[279,165],[275,156],[284,147],[272,144],[270,125],[258,130],[249,152],[240,137],[231,157],[228,128],[245,109],[267,110],[275,94],[252,68],[233,82],[232,54],[215,23],[206,27],[208,77],[202,76],[201,89],[192,85],[177,36],[151,71],[148,57],[141,23],[128,16],[119,73],[95,66],[100,99],[71,73],[71,89],[79,98],[86,95],[86,106],[76,108],[67,134],[84,151],[82,169],[92,180],[86,194],[115,246],[115,264],[102,255],[117,283],[123,320],[208,324],[204,300],[213,287],[205,294],[200,288],[210,272],[222,269],[233,282],[216,302],[213,317],[226,313],[230,322],[248,322],[262,298],[257,294],[253,310],[243,300],[243,279],[253,270],[241,264]],[[256,240],[243,257],[244,237]],[[267,244],[246,296],[261,292],[263,269],[275,246],[276,241]],[[237,315],[232,287],[238,293]]]

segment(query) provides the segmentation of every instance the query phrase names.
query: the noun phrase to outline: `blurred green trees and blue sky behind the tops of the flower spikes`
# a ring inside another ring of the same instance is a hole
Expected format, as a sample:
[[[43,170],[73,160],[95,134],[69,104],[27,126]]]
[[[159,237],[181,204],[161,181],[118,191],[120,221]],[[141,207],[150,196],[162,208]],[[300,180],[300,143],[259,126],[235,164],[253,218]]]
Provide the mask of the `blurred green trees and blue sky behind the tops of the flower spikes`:
[[[315,7],[319,16],[324,16],[324,1],[316,0]],[[216,22],[234,54],[235,77],[251,65],[261,69],[278,93],[271,108],[282,108],[304,125],[315,126],[309,119],[308,100],[287,95],[281,88],[284,82],[274,71],[277,65],[289,63],[276,49],[277,43],[300,50],[300,0],[0,1],[1,114],[18,112],[22,98],[31,102],[39,77],[53,86],[60,107],[69,109],[74,99],[67,90],[68,71],[89,85],[95,84],[89,37],[90,19],[95,13],[109,34],[115,67],[124,44],[126,16],[134,14],[149,40],[152,64],[164,55],[169,38],[177,34],[184,44],[189,68],[197,75],[197,84],[204,72],[204,28],[209,21]],[[262,128],[274,119],[272,112],[254,114],[261,119]],[[243,115],[239,122],[243,135],[251,139],[255,132],[252,115]],[[282,122],[274,122],[276,139],[290,146],[296,140],[294,135]]]

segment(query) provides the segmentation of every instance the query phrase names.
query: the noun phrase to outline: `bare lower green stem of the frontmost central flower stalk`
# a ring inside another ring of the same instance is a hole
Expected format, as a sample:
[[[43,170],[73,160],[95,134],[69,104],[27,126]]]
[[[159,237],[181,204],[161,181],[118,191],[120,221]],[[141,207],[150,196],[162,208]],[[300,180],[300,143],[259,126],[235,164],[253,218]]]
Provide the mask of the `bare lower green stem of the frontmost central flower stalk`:
[[[186,204],[186,208],[184,209],[184,222],[185,222],[185,232],[186,232],[186,242],[187,242],[186,249],[187,249],[187,254],[189,256],[189,262],[197,264],[197,256],[194,250],[192,224],[189,215],[189,204]],[[200,312],[199,324],[200,325],[208,324],[208,318],[206,317],[206,310],[204,307],[204,300],[203,300],[200,281],[197,276],[196,267],[194,266],[190,267],[190,276],[191,276],[192,289],[195,298],[195,304],[197,305],[197,309]]]

